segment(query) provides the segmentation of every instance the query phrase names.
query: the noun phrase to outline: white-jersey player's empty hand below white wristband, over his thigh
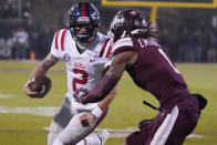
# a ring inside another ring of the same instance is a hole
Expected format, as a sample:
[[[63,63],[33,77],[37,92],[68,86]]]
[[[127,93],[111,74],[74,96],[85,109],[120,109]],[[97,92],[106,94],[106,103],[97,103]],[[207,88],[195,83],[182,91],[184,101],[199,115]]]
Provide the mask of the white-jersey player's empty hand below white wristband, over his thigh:
[[[84,113],[80,116],[80,122],[84,127],[90,126],[94,121],[95,116],[92,113]]]

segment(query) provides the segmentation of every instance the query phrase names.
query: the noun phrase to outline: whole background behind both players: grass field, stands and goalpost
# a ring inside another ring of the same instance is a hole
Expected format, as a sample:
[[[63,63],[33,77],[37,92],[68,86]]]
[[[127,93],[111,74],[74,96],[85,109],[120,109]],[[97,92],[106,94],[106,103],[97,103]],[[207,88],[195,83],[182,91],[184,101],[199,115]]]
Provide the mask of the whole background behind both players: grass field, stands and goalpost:
[[[49,76],[53,86],[43,100],[28,99],[22,87],[38,61],[50,51],[53,34],[65,28],[74,0],[0,0],[0,145],[45,145],[46,127],[66,91],[64,65]],[[209,104],[186,145],[216,145],[217,99],[217,0],[91,0],[97,6],[105,33],[113,15],[122,9],[137,9],[159,27],[158,42],[166,48],[192,92],[203,93]],[[23,32],[24,31],[24,32]],[[28,38],[19,44],[19,32]],[[29,37],[27,37],[29,35]],[[133,96],[133,97],[132,97]],[[155,111],[142,100],[158,105],[148,93],[124,75],[120,93],[100,128],[112,128],[106,145],[121,144],[142,118]],[[113,131],[116,130],[116,131]],[[124,132],[121,136],[118,133]],[[116,136],[116,137],[115,137]]]

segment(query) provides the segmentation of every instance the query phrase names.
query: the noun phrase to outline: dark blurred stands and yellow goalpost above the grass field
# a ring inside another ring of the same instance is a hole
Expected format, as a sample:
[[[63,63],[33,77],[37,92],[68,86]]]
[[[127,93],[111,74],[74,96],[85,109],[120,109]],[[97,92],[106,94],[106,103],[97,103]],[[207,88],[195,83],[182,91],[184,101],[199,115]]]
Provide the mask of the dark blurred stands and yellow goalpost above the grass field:
[[[50,51],[53,34],[65,28],[68,10],[73,1],[76,0],[1,0],[0,59],[43,59]],[[167,49],[172,60],[217,61],[216,0],[91,1],[100,10],[100,31],[103,33],[107,32],[118,10],[137,9],[159,27],[159,43]],[[13,39],[20,31],[29,35],[22,49]]]

